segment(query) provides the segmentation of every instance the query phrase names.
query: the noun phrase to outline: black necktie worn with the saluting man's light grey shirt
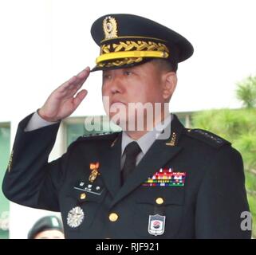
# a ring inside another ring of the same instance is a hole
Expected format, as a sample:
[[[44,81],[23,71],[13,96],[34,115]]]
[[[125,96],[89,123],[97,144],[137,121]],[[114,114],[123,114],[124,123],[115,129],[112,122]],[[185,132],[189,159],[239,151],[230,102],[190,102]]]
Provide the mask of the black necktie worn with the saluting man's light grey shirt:
[[[138,143],[132,142],[129,143],[124,150],[125,153],[125,161],[124,161],[124,167],[122,169],[122,185],[124,184],[125,180],[127,179],[128,175],[131,174],[131,172],[136,167],[136,157],[139,155],[141,149]]]

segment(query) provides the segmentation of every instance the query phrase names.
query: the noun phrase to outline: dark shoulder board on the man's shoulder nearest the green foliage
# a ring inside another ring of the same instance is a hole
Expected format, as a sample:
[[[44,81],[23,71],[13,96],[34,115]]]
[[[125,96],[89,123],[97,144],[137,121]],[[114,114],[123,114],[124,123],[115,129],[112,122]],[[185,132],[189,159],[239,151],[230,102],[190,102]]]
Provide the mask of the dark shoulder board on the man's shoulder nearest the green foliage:
[[[192,138],[199,139],[200,141],[207,143],[215,148],[222,147],[224,144],[231,144],[226,139],[223,139],[220,136],[203,129],[187,129],[187,135],[191,136]]]

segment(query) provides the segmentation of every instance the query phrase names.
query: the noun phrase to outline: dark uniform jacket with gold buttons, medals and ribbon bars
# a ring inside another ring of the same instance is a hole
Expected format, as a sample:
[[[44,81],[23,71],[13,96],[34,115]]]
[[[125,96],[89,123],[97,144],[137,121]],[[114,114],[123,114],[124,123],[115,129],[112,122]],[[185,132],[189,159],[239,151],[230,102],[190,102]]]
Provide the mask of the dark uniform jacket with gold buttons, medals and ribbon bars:
[[[170,138],[157,139],[121,186],[121,133],[81,137],[48,163],[59,124],[25,132],[30,117],[2,190],[23,206],[61,211],[66,238],[250,238],[240,227],[249,211],[242,158],[219,136],[174,116]],[[152,185],[161,169],[182,182]]]

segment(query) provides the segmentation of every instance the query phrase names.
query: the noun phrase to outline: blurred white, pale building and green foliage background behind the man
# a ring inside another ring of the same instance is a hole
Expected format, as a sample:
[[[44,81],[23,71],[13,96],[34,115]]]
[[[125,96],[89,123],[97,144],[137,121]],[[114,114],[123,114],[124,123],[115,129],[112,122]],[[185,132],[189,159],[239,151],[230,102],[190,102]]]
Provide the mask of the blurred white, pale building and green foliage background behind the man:
[[[54,88],[95,65],[100,51],[90,27],[96,18],[137,14],[176,30],[194,45],[194,55],[179,65],[170,111],[187,128],[213,131],[242,153],[256,222],[255,10],[254,0],[0,0],[0,182],[18,122],[40,108]],[[86,116],[105,121],[101,73],[92,73],[85,87],[89,94],[62,122],[49,160],[86,132]],[[1,190],[0,238],[26,238],[33,223],[47,214],[53,213],[9,202]]]

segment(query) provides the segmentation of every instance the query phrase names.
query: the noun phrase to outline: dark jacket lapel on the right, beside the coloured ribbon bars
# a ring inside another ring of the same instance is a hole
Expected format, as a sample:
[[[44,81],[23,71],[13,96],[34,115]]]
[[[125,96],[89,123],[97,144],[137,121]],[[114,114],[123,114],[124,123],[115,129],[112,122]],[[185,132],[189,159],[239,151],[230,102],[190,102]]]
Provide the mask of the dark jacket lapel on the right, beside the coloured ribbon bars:
[[[171,125],[168,125],[167,128],[171,128],[171,136],[168,139],[156,139],[155,143],[153,143],[152,147],[148,150],[146,155],[144,155],[144,158],[141,159],[136,169],[132,171],[132,174],[124,183],[124,186],[120,188],[111,206],[114,206],[116,202],[119,202],[132,190],[136,189],[137,186],[140,186],[141,183],[148,180],[148,177],[152,177],[156,171],[159,171],[165,163],[170,161],[181,151],[182,147],[179,147],[177,143],[183,132],[183,125],[179,122],[177,117],[174,116]]]

